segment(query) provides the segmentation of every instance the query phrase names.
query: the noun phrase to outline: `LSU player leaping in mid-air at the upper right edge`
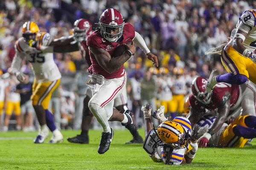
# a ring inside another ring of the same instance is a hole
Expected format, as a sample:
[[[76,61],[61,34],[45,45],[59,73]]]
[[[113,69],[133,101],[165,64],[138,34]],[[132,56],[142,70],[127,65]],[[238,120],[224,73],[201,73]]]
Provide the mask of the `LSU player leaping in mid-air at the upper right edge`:
[[[208,93],[218,82],[241,85],[249,78],[256,83],[256,9],[244,11],[232,33],[221,51],[221,62],[229,73],[218,75],[213,70],[207,82]]]

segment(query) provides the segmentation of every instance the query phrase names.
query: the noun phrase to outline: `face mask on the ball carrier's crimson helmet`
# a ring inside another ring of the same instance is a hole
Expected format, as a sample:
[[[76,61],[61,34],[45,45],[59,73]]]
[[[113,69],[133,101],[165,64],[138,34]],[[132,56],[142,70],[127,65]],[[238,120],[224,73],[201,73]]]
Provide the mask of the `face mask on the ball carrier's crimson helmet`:
[[[116,26],[114,25],[109,26],[99,22],[100,33],[102,37],[104,37],[109,42],[116,42],[122,36],[124,25],[125,23],[122,23],[121,25],[116,25]],[[119,32],[117,34],[111,34],[110,32],[107,32],[107,30],[113,30],[114,28],[119,28]]]

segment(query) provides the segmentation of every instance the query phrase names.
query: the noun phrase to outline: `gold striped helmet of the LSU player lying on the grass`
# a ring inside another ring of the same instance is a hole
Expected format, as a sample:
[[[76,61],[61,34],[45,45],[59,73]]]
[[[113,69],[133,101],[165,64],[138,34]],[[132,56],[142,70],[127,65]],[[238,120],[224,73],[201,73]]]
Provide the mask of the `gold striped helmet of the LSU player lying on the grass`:
[[[186,132],[183,127],[174,121],[165,121],[157,128],[159,139],[172,147],[180,147],[186,143]]]

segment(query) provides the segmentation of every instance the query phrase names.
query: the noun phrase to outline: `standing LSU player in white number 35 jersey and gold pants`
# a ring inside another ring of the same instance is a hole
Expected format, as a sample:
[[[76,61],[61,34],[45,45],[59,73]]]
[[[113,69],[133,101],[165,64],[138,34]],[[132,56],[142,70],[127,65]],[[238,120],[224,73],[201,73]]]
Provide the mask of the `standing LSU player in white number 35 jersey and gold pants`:
[[[48,110],[52,91],[60,84],[61,74],[53,60],[53,54],[36,50],[37,46],[51,45],[52,38],[49,33],[40,32],[33,21],[23,24],[22,33],[22,37],[15,44],[16,54],[12,61],[11,72],[20,82],[24,82],[25,75],[20,71],[21,62],[26,58],[32,64],[35,79],[31,100],[41,126],[34,143],[44,142],[49,135],[48,127],[53,133],[49,143],[61,142],[63,136],[56,128],[53,115]]]

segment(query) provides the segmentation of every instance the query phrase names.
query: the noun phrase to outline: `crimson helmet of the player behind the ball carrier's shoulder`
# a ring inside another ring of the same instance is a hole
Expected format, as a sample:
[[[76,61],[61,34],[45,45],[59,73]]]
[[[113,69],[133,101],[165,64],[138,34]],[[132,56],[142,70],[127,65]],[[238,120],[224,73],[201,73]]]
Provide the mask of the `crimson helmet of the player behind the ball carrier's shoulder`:
[[[76,20],[73,26],[74,37],[77,42],[86,41],[92,31],[92,24],[86,19]]]

